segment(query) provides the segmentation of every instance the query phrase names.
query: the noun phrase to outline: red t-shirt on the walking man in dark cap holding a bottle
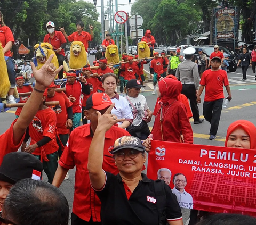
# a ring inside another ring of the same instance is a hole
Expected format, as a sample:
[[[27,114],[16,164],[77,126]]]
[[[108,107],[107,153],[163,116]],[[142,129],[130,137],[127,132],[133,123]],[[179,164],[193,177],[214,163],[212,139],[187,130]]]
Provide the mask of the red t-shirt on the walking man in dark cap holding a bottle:
[[[205,102],[224,98],[223,85],[229,85],[227,72],[225,70],[205,70],[200,84],[205,85]]]

